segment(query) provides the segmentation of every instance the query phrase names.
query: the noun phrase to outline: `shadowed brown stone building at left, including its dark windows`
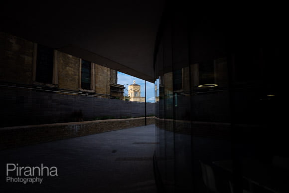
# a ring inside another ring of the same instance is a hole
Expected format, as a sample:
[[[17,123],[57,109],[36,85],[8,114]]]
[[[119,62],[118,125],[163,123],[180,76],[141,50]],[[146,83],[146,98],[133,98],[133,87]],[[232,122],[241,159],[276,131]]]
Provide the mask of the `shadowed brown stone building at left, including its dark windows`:
[[[123,99],[116,70],[5,32],[0,53],[1,86]]]

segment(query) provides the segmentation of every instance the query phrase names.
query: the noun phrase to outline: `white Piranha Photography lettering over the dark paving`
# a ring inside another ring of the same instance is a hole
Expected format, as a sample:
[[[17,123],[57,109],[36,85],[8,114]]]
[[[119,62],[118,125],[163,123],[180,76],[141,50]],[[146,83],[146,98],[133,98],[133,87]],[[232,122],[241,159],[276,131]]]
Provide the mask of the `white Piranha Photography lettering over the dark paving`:
[[[58,176],[56,167],[41,166],[29,167],[18,166],[18,164],[6,164],[6,182],[7,183],[39,183],[43,181],[43,176]]]

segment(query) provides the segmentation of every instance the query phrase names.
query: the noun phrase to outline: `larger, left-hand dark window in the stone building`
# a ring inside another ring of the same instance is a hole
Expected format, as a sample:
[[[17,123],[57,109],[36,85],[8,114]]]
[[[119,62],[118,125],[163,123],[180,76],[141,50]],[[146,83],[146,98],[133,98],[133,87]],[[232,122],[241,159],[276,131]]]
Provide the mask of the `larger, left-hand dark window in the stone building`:
[[[53,79],[54,50],[52,48],[37,45],[35,81],[52,84]]]

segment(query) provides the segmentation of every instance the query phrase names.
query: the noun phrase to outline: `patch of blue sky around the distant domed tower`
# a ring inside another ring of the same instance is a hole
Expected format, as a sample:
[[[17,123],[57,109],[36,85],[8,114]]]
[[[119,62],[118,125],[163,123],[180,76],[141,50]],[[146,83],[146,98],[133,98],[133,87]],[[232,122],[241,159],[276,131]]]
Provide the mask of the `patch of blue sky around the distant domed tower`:
[[[125,85],[125,94],[128,94],[128,85],[133,84],[134,80],[141,85],[141,96],[144,97],[144,80],[118,72],[118,84]],[[154,84],[146,81],[146,102],[154,103]]]

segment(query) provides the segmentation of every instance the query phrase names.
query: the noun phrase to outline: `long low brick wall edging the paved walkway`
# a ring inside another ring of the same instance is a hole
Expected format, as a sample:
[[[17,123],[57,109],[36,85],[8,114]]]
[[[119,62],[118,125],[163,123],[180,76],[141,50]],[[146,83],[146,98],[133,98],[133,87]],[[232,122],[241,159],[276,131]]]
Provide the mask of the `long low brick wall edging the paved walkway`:
[[[154,120],[147,117],[146,124]],[[138,126],[144,126],[144,117],[4,127],[0,128],[0,150]]]

